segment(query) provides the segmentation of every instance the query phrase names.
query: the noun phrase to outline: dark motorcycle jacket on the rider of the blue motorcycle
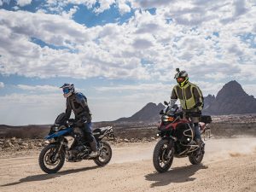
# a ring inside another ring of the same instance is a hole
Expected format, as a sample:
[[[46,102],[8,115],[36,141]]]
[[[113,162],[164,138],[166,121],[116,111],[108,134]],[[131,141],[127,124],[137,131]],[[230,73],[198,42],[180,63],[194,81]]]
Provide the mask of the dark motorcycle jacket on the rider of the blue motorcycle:
[[[66,115],[67,119],[70,118],[71,113],[74,113],[75,119],[87,119],[87,122],[91,121],[90,108],[87,104],[87,98],[79,92],[74,92],[71,96],[67,97]]]

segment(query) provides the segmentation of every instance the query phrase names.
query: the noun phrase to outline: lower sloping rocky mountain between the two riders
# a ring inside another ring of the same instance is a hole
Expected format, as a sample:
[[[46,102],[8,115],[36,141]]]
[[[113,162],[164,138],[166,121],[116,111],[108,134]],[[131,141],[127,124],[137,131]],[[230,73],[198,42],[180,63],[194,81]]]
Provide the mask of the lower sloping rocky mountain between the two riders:
[[[159,112],[165,108],[162,103],[156,105],[149,102],[145,107],[133,114],[129,118],[120,118],[116,122],[157,122],[159,120]]]

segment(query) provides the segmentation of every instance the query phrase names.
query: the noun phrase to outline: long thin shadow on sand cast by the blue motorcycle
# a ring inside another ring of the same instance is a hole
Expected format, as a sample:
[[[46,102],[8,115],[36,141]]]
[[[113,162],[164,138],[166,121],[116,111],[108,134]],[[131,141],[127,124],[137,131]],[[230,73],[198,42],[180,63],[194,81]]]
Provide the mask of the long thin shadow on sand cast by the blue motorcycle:
[[[84,168],[80,168],[80,169],[66,170],[66,171],[57,172],[54,174],[33,175],[33,176],[21,178],[20,181],[18,181],[18,182],[7,183],[7,184],[3,184],[1,186],[5,187],[5,186],[12,186],[12,185],[20,184],[20,183],[26,183],[26,182],[44,181],[44,180],[48,180],[51,178],[61,177],[63,175],[68,175],[68,174],[77,173],[77,172],[85,172],[85,171],[93,170],[93,169],[100,168],[100,167],[101,166],[91,166],[91,167],[84,167]]]

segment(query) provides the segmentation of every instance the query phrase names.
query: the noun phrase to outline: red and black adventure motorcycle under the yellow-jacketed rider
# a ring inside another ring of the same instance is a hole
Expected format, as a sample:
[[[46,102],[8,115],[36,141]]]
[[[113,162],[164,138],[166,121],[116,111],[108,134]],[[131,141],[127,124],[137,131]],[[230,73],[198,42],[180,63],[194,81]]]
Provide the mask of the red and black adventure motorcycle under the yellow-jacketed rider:
[[[157,172],[166,172],[172,166],[173,157],[189,157],[191,164],[197,165],[205,154],[205,144],[201,147],[195,143],[195,130],[191,121],[183,118],[183,112],[174,105],[168,106],[160,112],[161,119],[158,125],[160,141],[156,144],[153,154],[153,164]],[[201,135],[209,130],[211,116],[201,116]]]

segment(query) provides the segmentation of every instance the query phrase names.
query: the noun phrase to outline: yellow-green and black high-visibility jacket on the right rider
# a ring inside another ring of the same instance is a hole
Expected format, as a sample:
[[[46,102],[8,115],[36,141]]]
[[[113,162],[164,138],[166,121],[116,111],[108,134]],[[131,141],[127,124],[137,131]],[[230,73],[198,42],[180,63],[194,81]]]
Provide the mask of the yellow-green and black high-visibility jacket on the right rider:
[[[175,85],[172,90],[171,99],[179,99],[183,109],[203,108],[203,95],[199,87],[188,82],[183,87],[179,84]]]

